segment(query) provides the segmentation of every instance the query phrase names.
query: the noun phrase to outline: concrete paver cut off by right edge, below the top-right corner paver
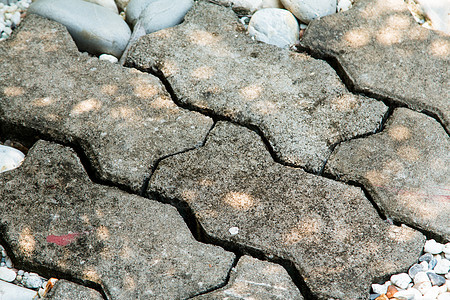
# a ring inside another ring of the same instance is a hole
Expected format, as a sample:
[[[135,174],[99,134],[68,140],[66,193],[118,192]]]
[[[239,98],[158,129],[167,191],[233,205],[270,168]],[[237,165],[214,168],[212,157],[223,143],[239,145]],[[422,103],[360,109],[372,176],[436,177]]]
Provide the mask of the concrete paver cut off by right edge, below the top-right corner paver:
[[[385,215],[450,241],[450,138],[436,120],[396,109],[383,132],[338,146],[325,171],[362,183]]]

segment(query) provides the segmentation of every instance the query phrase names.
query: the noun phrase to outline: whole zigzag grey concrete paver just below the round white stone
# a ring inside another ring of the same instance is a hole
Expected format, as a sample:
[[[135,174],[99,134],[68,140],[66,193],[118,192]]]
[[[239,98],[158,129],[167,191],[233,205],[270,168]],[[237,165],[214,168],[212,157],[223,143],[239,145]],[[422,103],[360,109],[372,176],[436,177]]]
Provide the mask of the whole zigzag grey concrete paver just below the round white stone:
[[[180,103],[258,127],[281,161],[313,172],[333,145],[379,128],[387,107],[349,93],[326,62],[244,31],[231,9],[198,1],[183,24],[138,40],[127,64],[162,71]]]

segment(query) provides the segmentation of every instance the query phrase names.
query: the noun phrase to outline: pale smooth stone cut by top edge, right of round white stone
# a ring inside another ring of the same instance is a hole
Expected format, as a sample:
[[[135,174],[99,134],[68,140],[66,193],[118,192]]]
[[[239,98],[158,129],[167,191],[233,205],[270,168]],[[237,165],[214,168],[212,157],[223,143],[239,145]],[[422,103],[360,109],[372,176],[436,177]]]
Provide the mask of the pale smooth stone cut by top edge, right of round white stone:
[[[281,0],[281,3],[306,24],[336,12],[336,0]]]

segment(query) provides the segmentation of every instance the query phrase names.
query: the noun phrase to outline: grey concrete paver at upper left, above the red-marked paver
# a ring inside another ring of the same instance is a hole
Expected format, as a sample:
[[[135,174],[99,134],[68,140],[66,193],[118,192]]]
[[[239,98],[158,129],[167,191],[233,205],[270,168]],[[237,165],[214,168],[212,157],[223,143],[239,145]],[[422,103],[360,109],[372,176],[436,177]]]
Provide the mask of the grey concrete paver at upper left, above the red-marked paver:
[[[0,121],[77,144],[101,179],[135,191],[213,123],[177,107],[156,77],[82,55],[65,27],[35,15],[0,43],[0,69]]]

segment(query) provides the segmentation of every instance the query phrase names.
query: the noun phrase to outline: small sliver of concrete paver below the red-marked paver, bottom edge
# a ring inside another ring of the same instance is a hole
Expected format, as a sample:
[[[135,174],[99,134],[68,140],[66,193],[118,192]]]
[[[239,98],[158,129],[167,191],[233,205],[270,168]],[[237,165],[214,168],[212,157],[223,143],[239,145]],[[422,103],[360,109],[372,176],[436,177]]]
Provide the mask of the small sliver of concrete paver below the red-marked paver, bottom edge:
[[[44,297],[47,300],[103,300],[102,295],[94,289],[61,279]]]

